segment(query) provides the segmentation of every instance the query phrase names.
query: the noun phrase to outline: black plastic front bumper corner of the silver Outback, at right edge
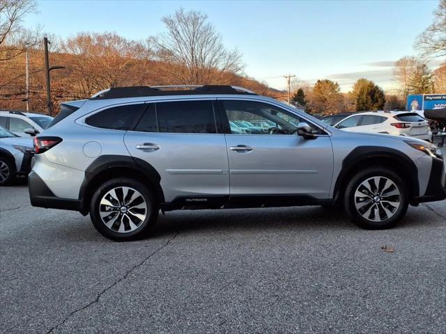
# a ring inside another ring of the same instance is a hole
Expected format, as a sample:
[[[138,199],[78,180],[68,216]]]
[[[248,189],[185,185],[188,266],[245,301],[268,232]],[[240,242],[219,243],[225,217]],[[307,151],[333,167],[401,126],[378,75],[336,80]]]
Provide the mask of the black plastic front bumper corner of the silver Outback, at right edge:
[[[423,196],[413,199],[413,204],[436,202],[446,198],[446,171],[442,159],[432,158],[431,176]]]

